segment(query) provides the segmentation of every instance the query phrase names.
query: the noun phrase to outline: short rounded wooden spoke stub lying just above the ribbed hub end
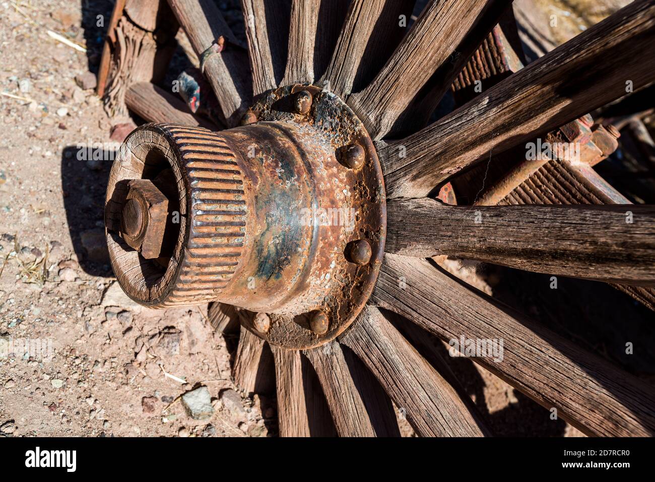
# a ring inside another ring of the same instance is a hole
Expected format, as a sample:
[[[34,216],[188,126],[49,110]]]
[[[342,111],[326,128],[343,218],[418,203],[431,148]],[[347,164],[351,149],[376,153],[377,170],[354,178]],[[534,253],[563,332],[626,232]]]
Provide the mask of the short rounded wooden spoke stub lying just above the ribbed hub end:
[[[125,104],[148,122],[216,128],[212,122],[189,112],[183,100],[149,82],[132,84],[125,93]]]

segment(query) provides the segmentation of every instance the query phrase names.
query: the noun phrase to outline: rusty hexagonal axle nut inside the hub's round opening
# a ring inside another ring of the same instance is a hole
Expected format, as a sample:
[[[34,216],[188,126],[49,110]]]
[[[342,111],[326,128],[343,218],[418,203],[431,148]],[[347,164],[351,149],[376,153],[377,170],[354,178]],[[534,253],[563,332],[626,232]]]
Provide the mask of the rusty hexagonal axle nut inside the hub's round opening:
[[[121,236],[125,242],[145,259],[159,257],[166,217],[168,198],[150,179],[132,179],[121,214]]]

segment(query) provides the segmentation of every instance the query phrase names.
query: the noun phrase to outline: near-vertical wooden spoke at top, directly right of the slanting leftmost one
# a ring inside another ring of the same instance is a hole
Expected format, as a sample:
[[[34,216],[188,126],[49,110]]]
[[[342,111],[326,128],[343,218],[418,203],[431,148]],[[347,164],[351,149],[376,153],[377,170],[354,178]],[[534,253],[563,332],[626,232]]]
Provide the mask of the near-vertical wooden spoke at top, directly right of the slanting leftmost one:
[[[253,96],[276,88],[286,65],[290,3],[241,0],[246,24]]]

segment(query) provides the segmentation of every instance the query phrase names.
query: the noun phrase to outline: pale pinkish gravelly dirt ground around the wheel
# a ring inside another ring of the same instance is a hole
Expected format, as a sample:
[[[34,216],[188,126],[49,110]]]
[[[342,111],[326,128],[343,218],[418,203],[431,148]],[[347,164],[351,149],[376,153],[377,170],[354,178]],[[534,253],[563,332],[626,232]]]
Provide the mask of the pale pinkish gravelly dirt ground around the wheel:
[[[0,0],[0,436],[275,435],[273,401],[235,393],[234,340],[206,307],[141,308],[111,273],[111,159],[80,155],[112,151],[111,121],[75,77],[98,68],[112,2],[16,1]],[[580,435],[470,360],[453,369],[496,434]],[[196,386],[210,392],[205,420],[180,399]]]

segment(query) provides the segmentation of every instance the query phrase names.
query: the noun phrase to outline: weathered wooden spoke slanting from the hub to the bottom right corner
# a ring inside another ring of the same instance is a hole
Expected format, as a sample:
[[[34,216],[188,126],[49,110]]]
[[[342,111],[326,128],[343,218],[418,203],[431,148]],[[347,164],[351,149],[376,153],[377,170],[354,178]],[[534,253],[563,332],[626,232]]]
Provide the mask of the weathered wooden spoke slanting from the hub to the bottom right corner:
[[[502,341],[498,356],[472,360],[544,407],[557,409],[557,417],[585,434],[655,434],[652,386],[512,308],[462,286],[428,261],[385,255],[371,302],[402,314],[451,344],[462,337],[473,343]]]

